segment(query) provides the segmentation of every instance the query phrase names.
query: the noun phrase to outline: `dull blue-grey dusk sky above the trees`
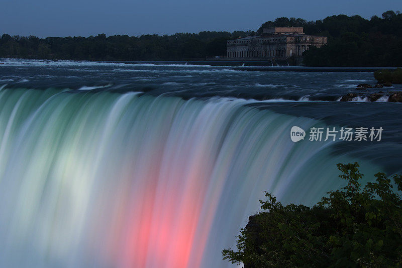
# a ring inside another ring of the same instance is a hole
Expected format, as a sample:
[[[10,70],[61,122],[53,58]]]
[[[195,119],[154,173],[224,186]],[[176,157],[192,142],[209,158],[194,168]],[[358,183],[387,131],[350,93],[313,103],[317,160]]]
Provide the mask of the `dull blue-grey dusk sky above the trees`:
[[[277,17],[381,16],[400,0],[0,0],[0,34],[89,36],[257,30]]]

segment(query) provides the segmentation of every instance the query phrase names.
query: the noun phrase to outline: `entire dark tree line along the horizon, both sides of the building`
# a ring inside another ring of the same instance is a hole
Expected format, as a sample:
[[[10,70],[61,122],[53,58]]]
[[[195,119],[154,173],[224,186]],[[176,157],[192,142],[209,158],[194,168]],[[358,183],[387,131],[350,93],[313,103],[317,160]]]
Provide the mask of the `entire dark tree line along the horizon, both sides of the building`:
[[[259,35],[264,27],[304,27],[306,34],[328,37],[328,44],[305,54],[308,66],[400,66],[402,14],[387,11],[370,20],[358,15],[323,20],[277,18],[257,31],[114,35],[89,37],[10,36],[0,38],[0,57],[69,60],[190,60],[226,55],[226,41]]]

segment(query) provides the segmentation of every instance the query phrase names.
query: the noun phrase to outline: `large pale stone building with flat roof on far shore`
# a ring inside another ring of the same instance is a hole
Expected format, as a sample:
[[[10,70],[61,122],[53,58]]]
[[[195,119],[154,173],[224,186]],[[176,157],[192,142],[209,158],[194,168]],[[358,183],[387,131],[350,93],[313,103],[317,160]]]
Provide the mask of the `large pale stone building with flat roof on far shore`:
[[[303,27],[263,28],[260,36],[227,41],[228,59],[271,60],[302,57],[310,46],[321,47],[327,37],[306,35]]]

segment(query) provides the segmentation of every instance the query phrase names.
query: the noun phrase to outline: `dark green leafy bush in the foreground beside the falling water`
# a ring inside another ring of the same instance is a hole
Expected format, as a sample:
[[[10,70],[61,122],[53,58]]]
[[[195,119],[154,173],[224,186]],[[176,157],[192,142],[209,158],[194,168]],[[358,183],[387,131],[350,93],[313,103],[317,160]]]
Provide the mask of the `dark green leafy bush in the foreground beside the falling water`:
[[[395,267],[402,265],[402,176],[384,173],[361,191],[358,163],[338,164],[347,186],[312,208],[283,206],[266,193],[224,259],[245,267]],[[393,187],[396,185],[397,190]]]

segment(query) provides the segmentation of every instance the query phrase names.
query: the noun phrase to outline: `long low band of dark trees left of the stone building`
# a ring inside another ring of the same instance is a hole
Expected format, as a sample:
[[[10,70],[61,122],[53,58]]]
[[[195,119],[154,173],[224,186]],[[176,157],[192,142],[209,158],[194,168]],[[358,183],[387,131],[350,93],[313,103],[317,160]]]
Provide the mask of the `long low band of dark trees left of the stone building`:
[[[189,60],[226,54],[226,40],[251,32],[89,37],[0,38],[0,57],[68,60]]]

